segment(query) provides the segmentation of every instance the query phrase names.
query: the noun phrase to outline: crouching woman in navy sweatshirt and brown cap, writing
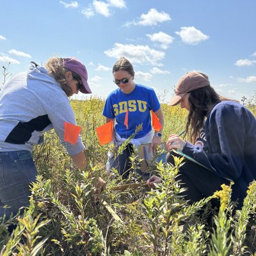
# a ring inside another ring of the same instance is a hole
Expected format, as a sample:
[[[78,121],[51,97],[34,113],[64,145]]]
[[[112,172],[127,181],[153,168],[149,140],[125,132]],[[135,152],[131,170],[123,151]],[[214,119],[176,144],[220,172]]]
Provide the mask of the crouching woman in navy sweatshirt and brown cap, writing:
[[[172,149],[178,148],[206,167],[186,160],[180,168],[179,180],[188,189],[185,198],[193,204],[232,180],[232,200],[241,208],[248,185],[256,180],[255,116],[236,101],[218,95],[200,72],[180,78],[169,105],[177,104],[189,111],[186,134],[192,143],[170,135],[166,161],[173,162]],[[151,177],[148,184],[157,181]]]

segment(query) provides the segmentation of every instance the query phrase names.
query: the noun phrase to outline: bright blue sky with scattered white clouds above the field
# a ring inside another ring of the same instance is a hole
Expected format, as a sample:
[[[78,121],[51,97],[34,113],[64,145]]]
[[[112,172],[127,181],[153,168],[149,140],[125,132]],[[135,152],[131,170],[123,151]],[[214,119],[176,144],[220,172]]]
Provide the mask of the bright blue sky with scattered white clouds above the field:
[[[93,95],[106,97],[116,88],[112,67],[125,56],[136,83],[165,102],[192,70],[207,74],[221,95],[255,95],[255,0],[0,0],[0,8],[0,65],[12,62],[12,74],[30,61],[76,56]]]

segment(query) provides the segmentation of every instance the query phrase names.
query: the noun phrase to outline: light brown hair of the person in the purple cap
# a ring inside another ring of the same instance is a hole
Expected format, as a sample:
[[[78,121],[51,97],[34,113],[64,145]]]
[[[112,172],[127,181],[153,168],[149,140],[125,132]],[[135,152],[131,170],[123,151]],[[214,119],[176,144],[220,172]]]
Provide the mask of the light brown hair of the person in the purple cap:
[[[71,96],[72,88],[70,88],[66,82],[65,73],[72,71],[68,68],[65,68],[63,64],[63,58],[53,57],[47,61],[45,68],[47,68],[49,76],[54,77],[54,79],[60,83],[62,90],[67,94],[67,96]],[[75,72],[72,72],[72,76],[76,81],[81,81],[81,77]]]

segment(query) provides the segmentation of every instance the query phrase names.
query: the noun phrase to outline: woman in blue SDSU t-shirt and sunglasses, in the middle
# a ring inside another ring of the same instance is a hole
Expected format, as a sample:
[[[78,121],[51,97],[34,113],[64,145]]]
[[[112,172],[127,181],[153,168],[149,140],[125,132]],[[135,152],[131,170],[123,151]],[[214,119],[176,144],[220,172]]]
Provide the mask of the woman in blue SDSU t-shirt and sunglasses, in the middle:
[[[156,146],[161,143],[164,118],[154,90],[134,83],[134,70],[127,59],[122,57],[116,61],[113,66],[113,76],[113,81],[118,88],[108,95],[103,115],[106,116],[107,123],[115,121],[114,143],[119,147],[129,136],[134,134],[136,127],[142,124],[141,131],[136,133],[122,154],[117,157],[109,156],[108,169],[116,168],[120,175],[126,179],[131,169],[129,157],[133,152],[132,145],[137,147],[140,144],[150,143],[149,150],[155,151]],[[159,118],[162,125],[159,132],[152,130],[151,110]]]

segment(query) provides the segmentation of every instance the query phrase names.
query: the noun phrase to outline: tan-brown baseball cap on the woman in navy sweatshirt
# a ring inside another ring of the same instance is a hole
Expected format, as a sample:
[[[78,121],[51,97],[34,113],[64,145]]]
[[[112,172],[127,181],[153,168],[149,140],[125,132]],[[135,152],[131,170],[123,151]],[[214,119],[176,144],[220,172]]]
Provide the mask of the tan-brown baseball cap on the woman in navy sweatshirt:
[[[210,81],[208,80],[207,75],[196,71],[188,72],[179,79],[175,86],[175,96],[171,99],[168,105],[175,106],[180,103],[180,100],[186,93],[209,85]]]

